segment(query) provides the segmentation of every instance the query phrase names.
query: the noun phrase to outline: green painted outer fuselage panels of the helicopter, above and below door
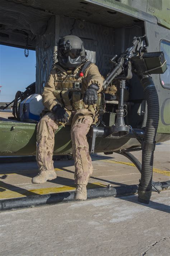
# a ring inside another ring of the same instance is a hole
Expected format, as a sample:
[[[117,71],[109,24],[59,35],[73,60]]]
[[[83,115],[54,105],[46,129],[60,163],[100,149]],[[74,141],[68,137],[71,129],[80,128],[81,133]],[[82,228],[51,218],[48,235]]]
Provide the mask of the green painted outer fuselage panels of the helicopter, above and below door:
[[[157,23],[166,28],[170,28],[169,0],[85,0],[88,3],[100,5],[132,16],[136,19],[148,21],[146,32],[149,41],[155,38]],[[146,22],[147,23],[147,22]],[[154,29],[155,28],[155,29]],[[165,29],[162,28],[161,29]],[[162,38],[165,32],[162,31]],[[152,45],[152,44],[151,44]],[[158,44],[157,44],[158,45]],[[150,51],[158,51],[151,46]],[[155,77],[159,75],[155,75]],[[158,81],[158,79],[156,80]],[[160,121],[157,130],[157,142],[169,140],[170,133],[170,99],[169,90],[156,84],[159,93]],[[22,122],[0,121],[0,155],[36,155],[36,124]],[[95,152],[116,151],[120,148],[130,148],[139,146],[136,139],[105,139],[96,138]],[[55,155],[70,154],[72,150],[70,126],[59,127],[55,134]]]

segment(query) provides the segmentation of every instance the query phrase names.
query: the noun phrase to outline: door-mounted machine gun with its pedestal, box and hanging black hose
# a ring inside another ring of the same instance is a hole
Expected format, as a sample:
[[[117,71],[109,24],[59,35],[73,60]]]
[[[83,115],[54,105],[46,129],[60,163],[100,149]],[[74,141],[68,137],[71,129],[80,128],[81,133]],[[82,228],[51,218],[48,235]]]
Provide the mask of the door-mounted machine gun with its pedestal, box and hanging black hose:
[[[149,203],[152,187],[154,187],[152,182],[153,159],[159,123],[159,98],[150,74],[162,74],[167,69],[164,52],[147,52],[147,46],[148,40],[146,35],[134,37],[132,45],[120,55],[117,63],[114,62],[115,58],[117,58],[116,55],[111,59],[115,67],[105,79],[104,88],[107,88],[113,80],[118,80],[119,100],[118,109],[116,110],[116,122],[110,127],[96,127],[94,124],[91,127],[91,153],[94,152],[96,137],[113,139],[121,137],[136,138],[141,143],[140,148],[122,149],[116,152],[127,156],[137,166],[138,164],[136,160],[134,161],[134,156],[126,151],[142,150],[142,165],[141,168],[138,167],[141,172],[140,184],[138,186],[138,201],[145,204]],[[131,79],[133,73],[136,73],[141,79],[140,83],[147,102],[145,129],[133,129],[124,123],[125,81]]]

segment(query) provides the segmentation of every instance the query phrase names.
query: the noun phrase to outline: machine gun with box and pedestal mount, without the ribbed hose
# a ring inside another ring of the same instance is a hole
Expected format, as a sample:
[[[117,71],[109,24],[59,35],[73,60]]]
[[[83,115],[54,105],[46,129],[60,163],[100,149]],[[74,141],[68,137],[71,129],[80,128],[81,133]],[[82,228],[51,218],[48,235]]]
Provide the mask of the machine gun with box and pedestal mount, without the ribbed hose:
[[[132,78],[132,74],[136,73],[140,78],[150,77],[150,74],[162,74],[166,71],[166,60],[164,52],[147,52],[148,39],[144,35],[142,37],[133,37],[132,45],[122,52],[118,57],[113,56],[110,61],[114,68],[103,82],[104,90],[107,89],[112,81],[117,80],[119,87],[118,109],[116,110],[116,122],[110,127],[96,127],[92,125],[91,136],[91,153],[94,152],[95,138],[120,138],[123,136],[129,138],[137,138],[140,142],[144,136],[143,129],[132,129],[131,126],[124,123],[124,89],[125,82]],[[117,59],[117,62],[114,60]]]

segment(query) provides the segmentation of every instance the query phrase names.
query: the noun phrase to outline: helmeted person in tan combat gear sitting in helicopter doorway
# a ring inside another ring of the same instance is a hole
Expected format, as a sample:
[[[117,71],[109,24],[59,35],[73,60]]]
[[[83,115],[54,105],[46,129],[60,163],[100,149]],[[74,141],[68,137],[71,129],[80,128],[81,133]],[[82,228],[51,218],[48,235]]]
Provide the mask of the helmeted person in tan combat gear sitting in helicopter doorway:
[[[69,124],[75,161],[75,199],[86,200],[86,185],[93,172],[86,135],[91,124],[98,120],[97,101],[103,78],[96,65],[86,60],[83,42],[77,36],[61,38],[57,56],[58,63],[42,95],[45,114],[37,128],[39,173],[32,183],[44,183],[57,177],[52,161],[55,131],[58,125]]]

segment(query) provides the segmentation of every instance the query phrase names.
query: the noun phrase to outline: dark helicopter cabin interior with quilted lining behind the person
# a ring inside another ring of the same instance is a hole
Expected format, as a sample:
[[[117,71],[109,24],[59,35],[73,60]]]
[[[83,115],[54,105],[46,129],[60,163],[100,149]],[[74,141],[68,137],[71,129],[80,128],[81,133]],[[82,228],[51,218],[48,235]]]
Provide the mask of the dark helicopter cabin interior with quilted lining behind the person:
[[[57,61],[58,39],[71,34],[82,39],[88,59],[106,77],[112,68],[109,59],[125,51],[134,36],[143,36],[145,23],[88,1],[1,1],[0,44],[36,51],[38,94],[42,93]],[[134,75],[127,88],[125,122],[133,128],[142,128],[145,100],[138,77]],[[115,113],[117,104],[107,103],[106,107],[107,112]],[[112,117],[105,116],[105,122],[112,123],[108,118]]]

